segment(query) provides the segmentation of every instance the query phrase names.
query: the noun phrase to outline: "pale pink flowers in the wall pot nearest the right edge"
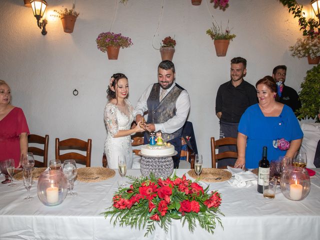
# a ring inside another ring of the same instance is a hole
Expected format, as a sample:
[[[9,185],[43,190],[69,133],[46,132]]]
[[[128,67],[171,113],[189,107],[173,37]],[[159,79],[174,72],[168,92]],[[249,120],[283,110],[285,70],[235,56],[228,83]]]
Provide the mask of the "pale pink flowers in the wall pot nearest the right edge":
[[[320,37],[314,37],[311,39],[310,36],[298,38],[293,46],[289,46],[289,50],[292,52],[292,56],[302,58],[310,56],[315,58],[320,56]]]

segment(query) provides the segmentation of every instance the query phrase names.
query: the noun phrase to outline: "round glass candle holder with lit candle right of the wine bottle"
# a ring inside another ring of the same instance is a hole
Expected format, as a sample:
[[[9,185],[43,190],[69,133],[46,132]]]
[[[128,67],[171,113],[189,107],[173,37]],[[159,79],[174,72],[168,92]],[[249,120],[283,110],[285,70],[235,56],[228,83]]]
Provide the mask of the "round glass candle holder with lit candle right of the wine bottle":
[[[303,200],[310,191],[310,176],[302,167],[285,167],[281,173],[280,187],[286,198],[294,201]]]

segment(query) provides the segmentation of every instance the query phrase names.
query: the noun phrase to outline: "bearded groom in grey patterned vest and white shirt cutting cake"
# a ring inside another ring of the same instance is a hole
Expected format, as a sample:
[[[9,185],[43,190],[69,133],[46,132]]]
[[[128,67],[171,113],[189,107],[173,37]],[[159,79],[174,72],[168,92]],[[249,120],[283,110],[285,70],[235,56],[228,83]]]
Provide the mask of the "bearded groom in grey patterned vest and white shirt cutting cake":
[[[162,131],[163,141],[170,142],[178,152],[173,156],[173,167],[179,166],[182,126],[190,109],[188,92],[175,83],[174,64],[169,60],[158,65],[158,82],[149,85],[136,104],[133,114],[139,122],[144,112],[148,117],[144,124],[144,144],[148,143],[149,132]]]

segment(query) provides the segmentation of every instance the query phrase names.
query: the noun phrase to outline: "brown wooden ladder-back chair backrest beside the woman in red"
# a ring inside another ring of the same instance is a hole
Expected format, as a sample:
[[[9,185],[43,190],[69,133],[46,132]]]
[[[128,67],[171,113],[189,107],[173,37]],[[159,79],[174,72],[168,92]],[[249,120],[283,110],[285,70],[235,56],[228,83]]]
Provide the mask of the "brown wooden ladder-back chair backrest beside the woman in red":
[[[43,156],[43,161],[38,161],[34,159],[35,167],[47,167],[49,135],[45,135],[43,137],[36,134],[29,134],[28,145],[29,143],[43,144],[43,149],[35,146],[28,146],[28,152],[32,152],[33,155]]]

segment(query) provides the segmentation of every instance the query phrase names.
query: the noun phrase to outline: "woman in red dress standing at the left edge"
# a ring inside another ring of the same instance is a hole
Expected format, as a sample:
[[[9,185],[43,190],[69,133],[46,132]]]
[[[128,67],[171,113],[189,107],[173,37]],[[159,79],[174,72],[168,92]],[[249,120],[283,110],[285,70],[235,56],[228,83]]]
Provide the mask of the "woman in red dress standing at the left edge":
[[[0,161],[14,159],[20,166],[20,156],[27,152],[29,128],[21,108],[12,106],[11,89],[0,80]]]

